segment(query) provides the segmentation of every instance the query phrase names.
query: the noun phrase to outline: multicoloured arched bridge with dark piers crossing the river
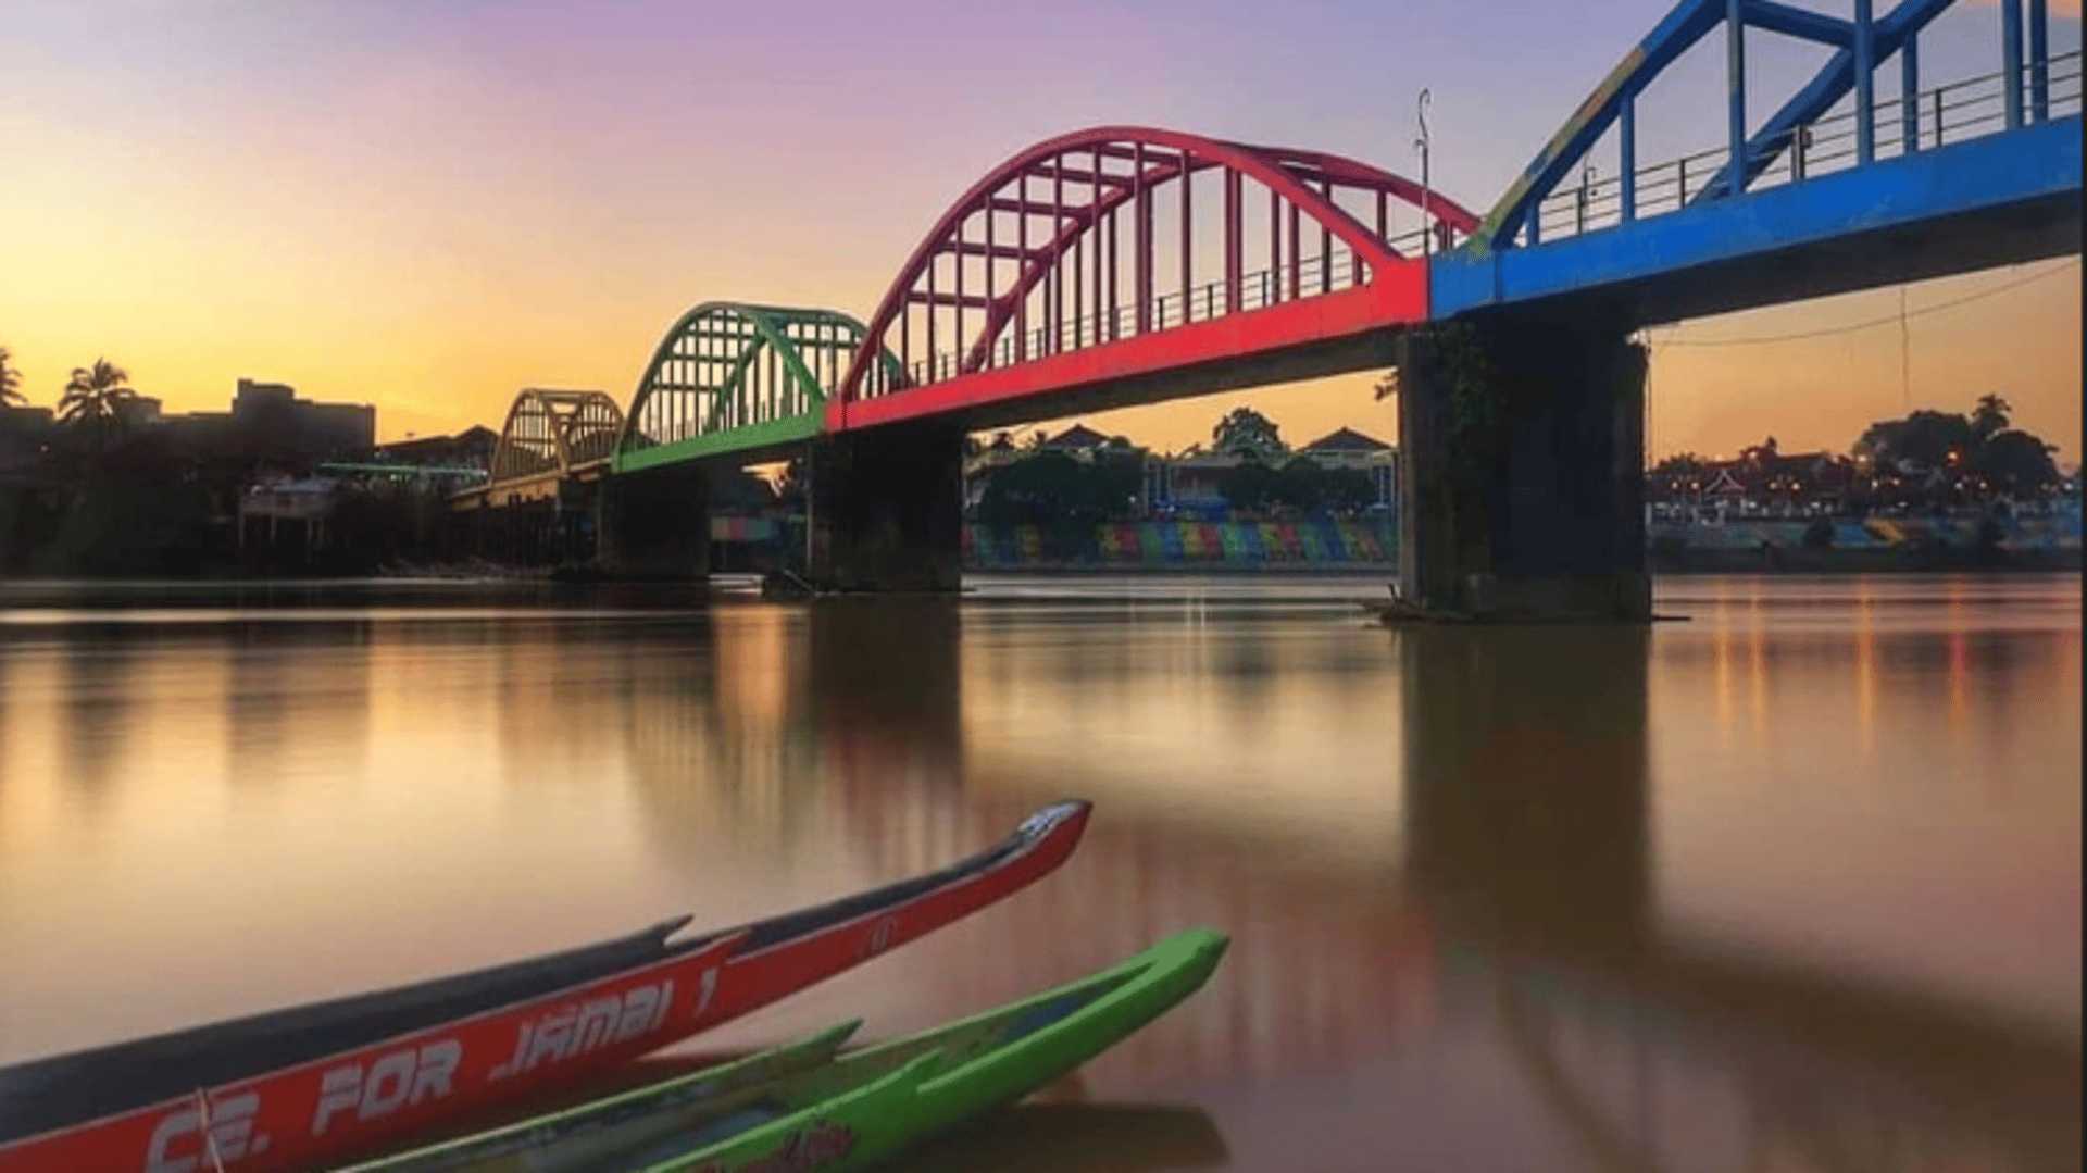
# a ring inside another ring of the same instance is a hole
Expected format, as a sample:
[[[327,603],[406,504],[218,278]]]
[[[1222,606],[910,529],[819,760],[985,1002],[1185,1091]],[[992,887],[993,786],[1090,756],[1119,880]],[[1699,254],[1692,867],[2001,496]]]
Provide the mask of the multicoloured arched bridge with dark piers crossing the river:
[[[1396,365],[1400,593],[1642,618],[1634,330],[2079,250],[2079,50],[2052,52],[2047,0],[1999,0],[1997,69],[1922,88],[1920,33],[1953,4],[1682,0],[1484,215],[1317,150],[1039,142],[931,223],[866,319],[703,303],[628,413],[586,401],[584,453],[559,432],[580,401],[524,392],[509,463],[457,505],[566,501],[603,564],[693,576],[712,470],[795,459],[812,578],[950,591],[966,432]],[[1640,165],[1640,98],[1720,27],[1722,146]],[[1764,33],[1832,54],[1755,125]]]

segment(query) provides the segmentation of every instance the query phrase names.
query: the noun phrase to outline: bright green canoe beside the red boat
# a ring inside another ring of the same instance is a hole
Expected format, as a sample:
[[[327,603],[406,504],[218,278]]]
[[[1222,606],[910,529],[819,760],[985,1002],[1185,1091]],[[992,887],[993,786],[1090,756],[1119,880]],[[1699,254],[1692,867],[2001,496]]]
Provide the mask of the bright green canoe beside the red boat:
[[[1223,933],[904,1039],[841,1052],[847,1023],[693,1075],[340,1173],[841,1173],[1021,1100],[1208,981]]]

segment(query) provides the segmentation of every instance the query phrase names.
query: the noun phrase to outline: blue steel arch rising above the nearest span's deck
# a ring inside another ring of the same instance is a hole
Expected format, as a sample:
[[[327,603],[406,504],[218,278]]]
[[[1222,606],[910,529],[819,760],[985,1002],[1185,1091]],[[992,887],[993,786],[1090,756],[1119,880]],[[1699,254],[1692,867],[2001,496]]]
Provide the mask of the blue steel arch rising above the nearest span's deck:
[[[1759,131],[1745,138],[1734,152],[1745,161],[1741,190],[1766,171],[1795,142],[1797,129],[1830,111],[1841,98],[1860,86],[1857,58],[1868,56],[1876,69],[1893,54],[1905,50],[1928,23],[1935,21],[1956,0],[1899,0],[1899,4],[1874,21],[1847,21],[1809,8],[1782,4],[1780,0],[1682,0],[1651,33],[1645,35],[1624,61],[1601,79],[1580,102],[1574,115],[1551,136],[1544,148],[1521,171],[1521,175],[1501,194],[1486,213],[1484,223],[1471,234],[1469,248],[1490,253],[1513,248],[1515,238],[1530,225],[1538,205],[1557,190],[1586,159],[1611,125],[1624,121],[1622,134],[1632,136],[1628,115],[1632,102],[1670,65],[1680,61],[1697,42],[1718,25],[1728,25],[1732,13],[1745,29],[1780,33],[1834,48],[1834,54],[1820,71],[1791,96]],[[1743,102],[1743,79],[1730,79],[1734,102]],[[1743,106],[1738,106],[1743,111]],[[1624,150],[1626,169],[1632,169],[1634,150]],[[1695,198],[1688,202],[1722,198],[1730,194],[1732,161],[1718,169]]]

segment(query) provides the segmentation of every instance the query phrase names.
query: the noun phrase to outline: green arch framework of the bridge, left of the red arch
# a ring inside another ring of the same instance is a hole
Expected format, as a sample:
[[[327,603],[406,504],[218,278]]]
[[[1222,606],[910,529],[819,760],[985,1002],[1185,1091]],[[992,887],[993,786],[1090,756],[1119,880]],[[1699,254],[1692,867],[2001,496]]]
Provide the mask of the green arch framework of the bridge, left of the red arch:
[[[829,330],[831,334],[826,338],[797,334],[816,330]],[[674,321],[659,340],[659,346],[653,349],[651,361],[645,363],[645,374],[630,397],[630,411],[624,415],[622,436],[616,442],[616,472],[637,472],[810,440],[824,426],[829,392],[816,367],[824,365],[833,382],[845,378],[864,334],[862,321],[833,309],[795,309],[735,301],[710,301],[691,309]],[[693,349],[697,355],[680,353],[685,340],[695,342]],[[710,346],[703,344],[705,340]],[[829,361],[808,359],[806,349],[824,355]],[[764,351],[774,355],[793,392],[785,411],[764,420],[749,420],[755,413],[755,405],[749,399],[753,390],[751,372]],[[716,386],[662,386],[662,374],[668,369],[668,363],[676,361],[695,363],[699,372],[703,365],[728,365]],[[891,353],[885,353],[883,361],[891,372],[899,369]],[[691,415],[672,428],[670,438],[647,436],[647,428],[655,434],[659,432],[657,422],[649,415],[655,399],[680,392],[693,392],[701,409],[691,405]],[[741,424],[726,426],[728,413],[739,415]]]

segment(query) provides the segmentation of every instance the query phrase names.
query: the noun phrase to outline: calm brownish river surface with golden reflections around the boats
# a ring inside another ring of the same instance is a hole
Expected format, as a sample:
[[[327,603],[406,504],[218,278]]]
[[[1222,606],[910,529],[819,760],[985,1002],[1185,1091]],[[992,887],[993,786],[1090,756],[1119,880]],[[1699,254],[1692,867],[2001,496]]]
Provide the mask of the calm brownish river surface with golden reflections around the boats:
[[[699,1039],[1217,979],[916,1169],[2043,1171],[2081,1144],[2081,580],[962,603],[0,584],[0,1062],[730,923],[1098,804],[1012,902]]]

